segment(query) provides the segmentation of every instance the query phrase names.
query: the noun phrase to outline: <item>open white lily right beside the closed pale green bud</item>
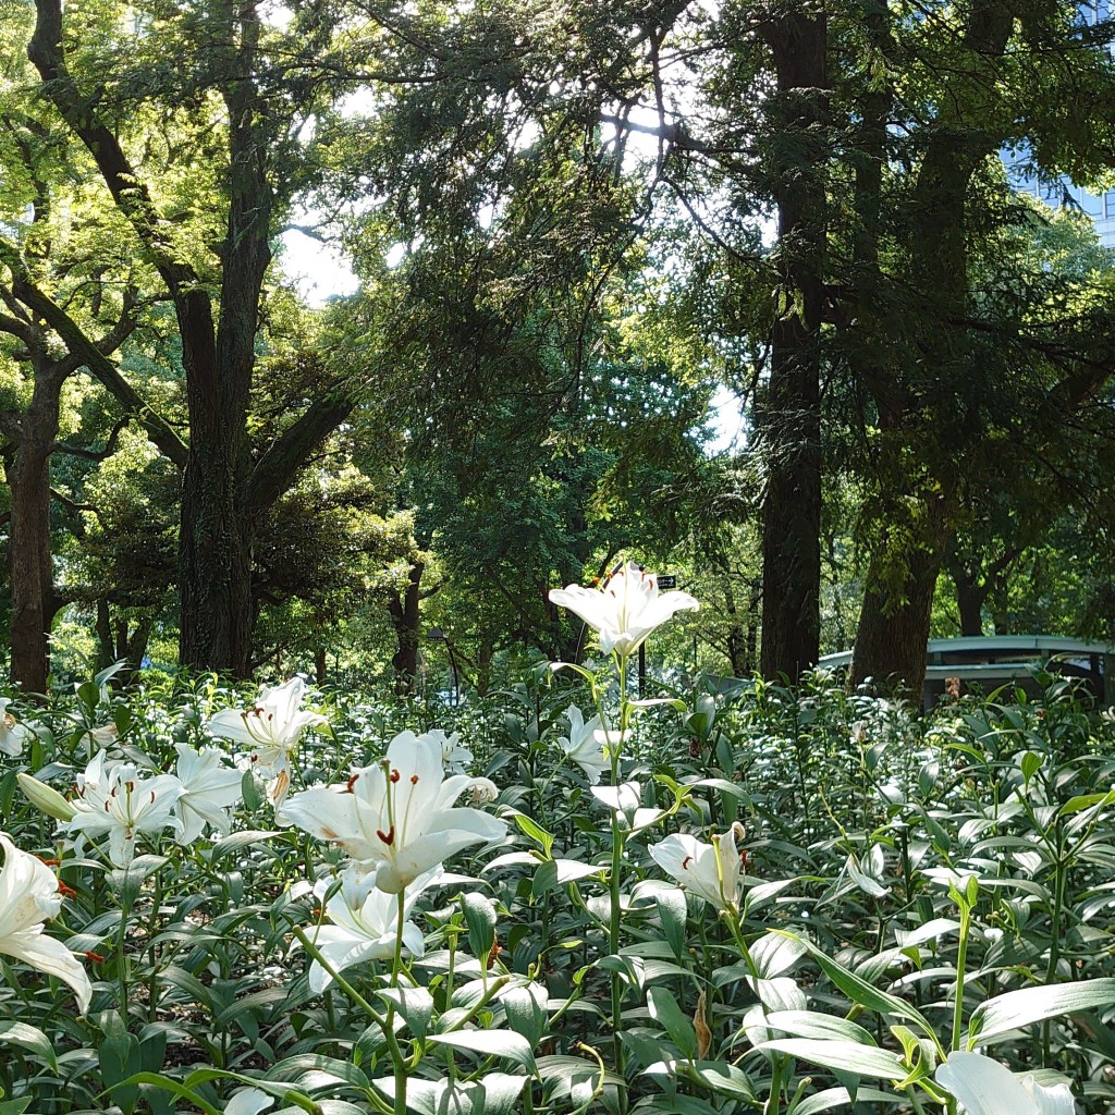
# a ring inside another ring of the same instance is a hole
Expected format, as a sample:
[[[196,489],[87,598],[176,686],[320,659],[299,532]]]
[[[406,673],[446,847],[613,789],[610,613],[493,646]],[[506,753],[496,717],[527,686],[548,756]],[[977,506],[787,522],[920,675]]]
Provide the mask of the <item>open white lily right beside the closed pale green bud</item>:
[[[173,774],[140,778],[130,763],[105,765],[105,753],[77,776],[77,796],[70,802],[74,816],[61,824],[68,833],[90,836],[108,834],[108,859],[126,867],[135,855],[137,833],[163,828],[181,831],[174,806],[182,796],[182,783]]]

